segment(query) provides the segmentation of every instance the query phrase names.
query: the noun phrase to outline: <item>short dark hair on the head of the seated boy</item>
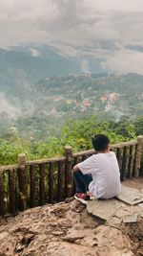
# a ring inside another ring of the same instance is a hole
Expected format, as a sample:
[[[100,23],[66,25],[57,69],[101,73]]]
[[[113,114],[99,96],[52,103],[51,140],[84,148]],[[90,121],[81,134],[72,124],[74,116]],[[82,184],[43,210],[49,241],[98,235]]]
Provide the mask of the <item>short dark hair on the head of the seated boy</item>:
[[[92,146],[95,151],[107,150],[109,143],[109,138],[104,134],[98,134],[92,138]]]

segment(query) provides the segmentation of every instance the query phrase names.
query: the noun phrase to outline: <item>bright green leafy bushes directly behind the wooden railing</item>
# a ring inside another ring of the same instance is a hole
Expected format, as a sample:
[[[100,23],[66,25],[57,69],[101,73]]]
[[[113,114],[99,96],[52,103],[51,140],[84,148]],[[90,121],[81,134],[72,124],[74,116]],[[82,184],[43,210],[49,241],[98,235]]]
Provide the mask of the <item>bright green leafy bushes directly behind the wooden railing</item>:
[[[143,117],[138,117],[133,123],[124,117],[118,123],[100,121],[97,117],[81,120],[69,120],[62,128],[59,136],[47,137],[45,140],[35,141],[20,138],[15,131],[12,135],[0,139],[1,165],[17,162],[20,152],[27,154],[27,159],[40,159],[63,155],[64,146],[72,146],[73,152],[92,149],[91,138],[97,133],[104,133],[110,137],[111,143],[118,143],[135,138],[143,134]]]

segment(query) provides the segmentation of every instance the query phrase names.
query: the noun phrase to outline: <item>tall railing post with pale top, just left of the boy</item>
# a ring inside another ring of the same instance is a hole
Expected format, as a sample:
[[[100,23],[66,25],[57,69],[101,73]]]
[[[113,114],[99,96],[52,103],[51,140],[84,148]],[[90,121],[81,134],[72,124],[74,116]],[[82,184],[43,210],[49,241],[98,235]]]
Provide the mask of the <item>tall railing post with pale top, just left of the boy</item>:
[[[65,196],[72,197],[72,147],[65,147],[66,165],[65,165]]]

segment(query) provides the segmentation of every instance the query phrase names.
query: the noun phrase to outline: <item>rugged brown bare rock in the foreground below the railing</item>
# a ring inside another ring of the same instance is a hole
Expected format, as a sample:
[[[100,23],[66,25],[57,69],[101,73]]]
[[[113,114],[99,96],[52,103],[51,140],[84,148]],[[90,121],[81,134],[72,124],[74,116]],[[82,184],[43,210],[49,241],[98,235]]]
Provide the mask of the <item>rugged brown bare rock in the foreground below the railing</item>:
[[[73,198],[3,220],[0,256],[141,256],[143,219],[119,226],[89,215]]]

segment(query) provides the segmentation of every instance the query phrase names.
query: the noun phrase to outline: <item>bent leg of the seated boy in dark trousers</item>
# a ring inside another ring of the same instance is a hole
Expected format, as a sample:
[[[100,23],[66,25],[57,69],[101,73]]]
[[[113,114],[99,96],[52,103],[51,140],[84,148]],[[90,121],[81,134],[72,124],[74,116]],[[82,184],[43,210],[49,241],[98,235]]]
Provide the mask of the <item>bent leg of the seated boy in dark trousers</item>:
[[[89,184],[92,181],[92,175],[83,175],[81,171],[73,172],[73,178],[77,193],[87,193]]]

